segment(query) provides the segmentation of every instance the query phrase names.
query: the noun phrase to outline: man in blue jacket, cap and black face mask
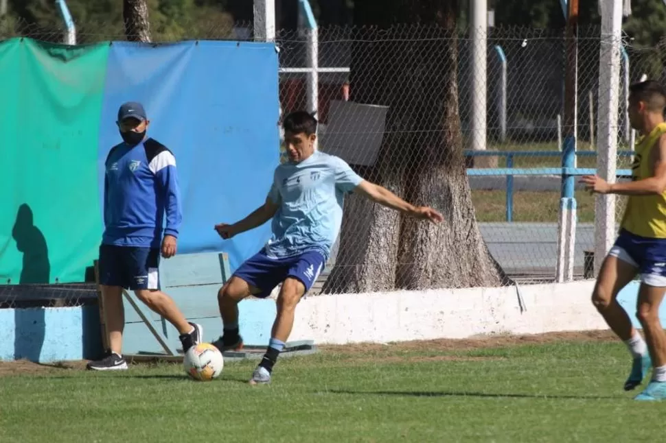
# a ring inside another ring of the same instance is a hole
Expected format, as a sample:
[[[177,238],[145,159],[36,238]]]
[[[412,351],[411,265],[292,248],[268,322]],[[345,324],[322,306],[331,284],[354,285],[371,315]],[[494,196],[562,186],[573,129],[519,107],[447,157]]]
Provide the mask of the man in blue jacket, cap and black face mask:
[[[91,370],[127,369],[122,357],[123,288],[135,291],[152,311],[174,325],[184,352],[203,335],[201,326],[187,322],[174,301],[159,290],[160,252],[165,259],[176,254],[181,197],[176,158],[167,147],[146,137],[149,124],[141,104],[123,104],[117,121],[123,143],[106,158],[99,266],[110,349],[104,358],[88,364]]]

